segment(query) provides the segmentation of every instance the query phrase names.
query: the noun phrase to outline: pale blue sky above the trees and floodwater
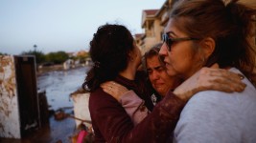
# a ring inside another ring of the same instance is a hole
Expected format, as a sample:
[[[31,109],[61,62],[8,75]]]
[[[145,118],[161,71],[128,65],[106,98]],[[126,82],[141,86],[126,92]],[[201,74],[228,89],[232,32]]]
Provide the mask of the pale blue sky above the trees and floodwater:
[[[160,9],[165,0],[1,0],[0,52],[88,51],[105,23],[141,29],[142,10]]]

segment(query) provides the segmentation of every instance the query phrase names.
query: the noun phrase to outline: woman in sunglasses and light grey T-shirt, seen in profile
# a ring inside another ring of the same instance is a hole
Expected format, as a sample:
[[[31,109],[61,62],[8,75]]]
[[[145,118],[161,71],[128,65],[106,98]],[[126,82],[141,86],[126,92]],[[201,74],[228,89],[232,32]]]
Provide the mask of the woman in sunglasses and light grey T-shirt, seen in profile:
[[[237,0],[175,4],[159,52],[168,74],[187,80],[218,63],[221,69],[243,73],[247,85],[244,92],[198,92],[181,112],[175,142],[256,142],[255,14]]]

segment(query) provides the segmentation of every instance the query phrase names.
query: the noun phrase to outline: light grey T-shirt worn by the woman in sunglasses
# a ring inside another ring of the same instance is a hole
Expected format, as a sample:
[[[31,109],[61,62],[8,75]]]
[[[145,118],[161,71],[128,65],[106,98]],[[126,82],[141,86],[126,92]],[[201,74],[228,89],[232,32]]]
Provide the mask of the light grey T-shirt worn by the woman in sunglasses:
[[[244,92],[207,91],[192,97],[181,112],[174,142],[255,143],[256,89],[247,78],[244,83]]]

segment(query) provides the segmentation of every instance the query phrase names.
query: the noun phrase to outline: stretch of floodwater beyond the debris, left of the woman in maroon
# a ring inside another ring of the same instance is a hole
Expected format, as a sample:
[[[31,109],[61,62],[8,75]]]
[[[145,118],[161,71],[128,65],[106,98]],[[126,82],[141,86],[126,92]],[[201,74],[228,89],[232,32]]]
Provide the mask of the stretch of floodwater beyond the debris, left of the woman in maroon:
[[[50,109],[73,107],[70,93],[77,91],[85,78],[88,67],[68,71],[48,72],[37,77],[37,88],[45,91]]]

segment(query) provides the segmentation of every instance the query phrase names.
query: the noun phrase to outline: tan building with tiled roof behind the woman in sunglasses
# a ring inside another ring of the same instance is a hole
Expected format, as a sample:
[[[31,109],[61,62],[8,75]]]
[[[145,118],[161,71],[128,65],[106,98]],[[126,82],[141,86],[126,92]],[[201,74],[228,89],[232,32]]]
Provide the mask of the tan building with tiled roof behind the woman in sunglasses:
[[[159,10],[142,11],[141,27],[145,30],[145,33],[137,33],[135,34],[134,38],[137,46],[140,48],[143,54],[153,45],[162,41],[161,35],[169,20],[169,13],[176,1],[178,0],[166,0]],[[239,2],[256,9],[255,0],[240,0]],[[253,31],[255,34],[252,40],[256,45],[256,24]]]

